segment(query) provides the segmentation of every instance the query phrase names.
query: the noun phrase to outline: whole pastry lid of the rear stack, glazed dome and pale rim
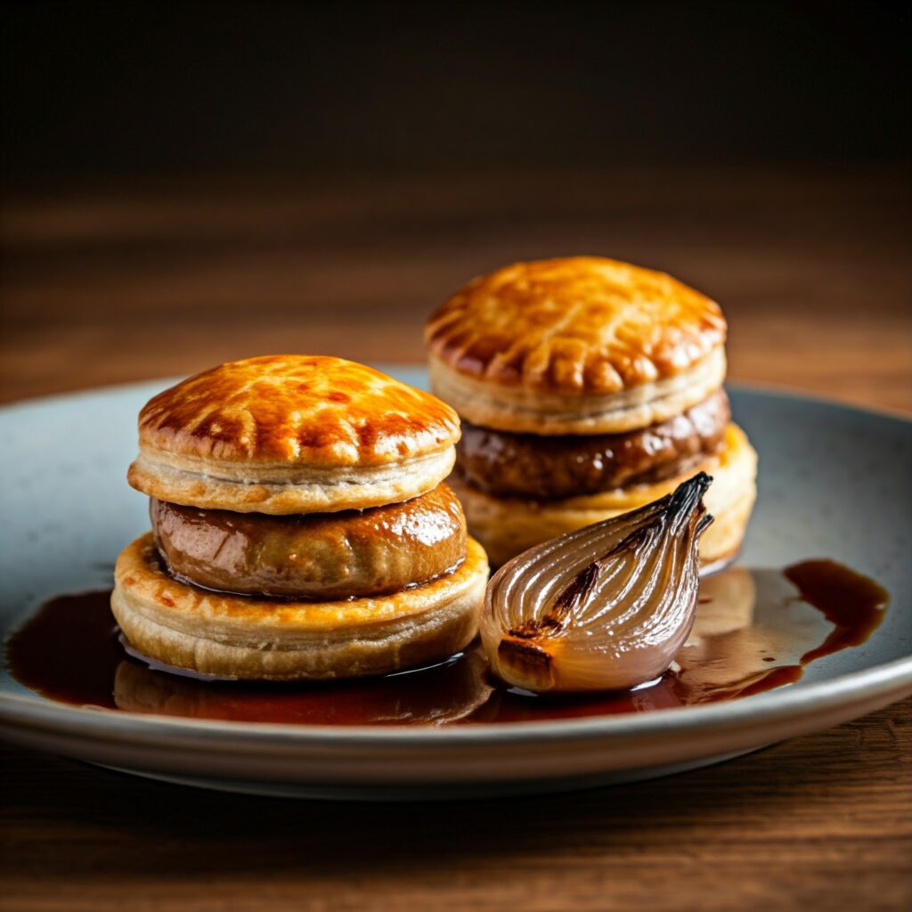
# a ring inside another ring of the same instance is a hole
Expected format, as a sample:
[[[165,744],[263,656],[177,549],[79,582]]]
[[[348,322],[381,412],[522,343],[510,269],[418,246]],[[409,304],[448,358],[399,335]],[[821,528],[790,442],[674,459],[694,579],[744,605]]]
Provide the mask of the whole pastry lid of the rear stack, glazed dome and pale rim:
[[[667,420],[725,377],[720,307],[668,275],[594,256],[518,263],[430,317],[432,389],[497,430],[599,434]]]

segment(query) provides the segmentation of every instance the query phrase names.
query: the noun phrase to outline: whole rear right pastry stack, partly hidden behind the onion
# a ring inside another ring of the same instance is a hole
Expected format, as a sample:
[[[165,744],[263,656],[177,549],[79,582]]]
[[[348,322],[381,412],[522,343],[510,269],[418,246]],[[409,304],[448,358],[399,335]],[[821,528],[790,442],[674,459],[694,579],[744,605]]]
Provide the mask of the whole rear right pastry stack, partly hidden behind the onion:
[[[719,305],[594,256],[474,279],[425,329],[434,393],[460,413],[453,490],[495,565],[715,476],[703,565],[738,550],[756,453],[731,423]]]

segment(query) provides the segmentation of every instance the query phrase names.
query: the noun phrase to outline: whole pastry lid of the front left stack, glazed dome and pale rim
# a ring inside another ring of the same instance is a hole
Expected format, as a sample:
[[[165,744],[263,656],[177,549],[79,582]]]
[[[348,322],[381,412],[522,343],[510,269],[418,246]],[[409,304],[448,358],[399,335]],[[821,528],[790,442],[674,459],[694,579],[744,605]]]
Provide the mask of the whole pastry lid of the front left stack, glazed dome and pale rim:
[[[455,412],[342,358],[248,358],[166,389],[140,412],[128,480],[161,501],[239,513],[364,509],[451,471]]]

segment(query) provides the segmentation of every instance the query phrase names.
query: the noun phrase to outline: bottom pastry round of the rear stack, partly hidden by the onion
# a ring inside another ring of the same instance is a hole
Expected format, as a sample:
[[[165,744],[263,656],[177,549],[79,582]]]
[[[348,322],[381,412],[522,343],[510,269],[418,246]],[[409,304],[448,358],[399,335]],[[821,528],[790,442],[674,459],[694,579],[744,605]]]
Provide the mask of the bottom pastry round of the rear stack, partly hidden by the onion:
[[[700,539],[700,564],[709,569],[738,553],[757,494],[757,454],[736,424],[726,428],[724,448],[718,455],[686,475],[655,484],[536,502],[481,492],[458,474],[448,483],[462,502],[469,532],[484,545],[492,565],[498,566],[534,544],[652,503],[697,472],[709,472],[713,477],[704,502],[715,521]]]

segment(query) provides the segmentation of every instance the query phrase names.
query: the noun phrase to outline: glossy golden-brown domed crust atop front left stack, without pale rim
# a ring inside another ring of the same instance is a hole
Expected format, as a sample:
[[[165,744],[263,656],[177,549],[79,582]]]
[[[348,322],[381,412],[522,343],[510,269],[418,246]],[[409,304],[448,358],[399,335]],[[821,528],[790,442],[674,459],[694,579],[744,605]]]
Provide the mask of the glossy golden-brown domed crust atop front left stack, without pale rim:
[[[140,450],[220,465],[382,466],[446,451],[459,418],[440,399],[342,358],[232,361],[140,411]]]

